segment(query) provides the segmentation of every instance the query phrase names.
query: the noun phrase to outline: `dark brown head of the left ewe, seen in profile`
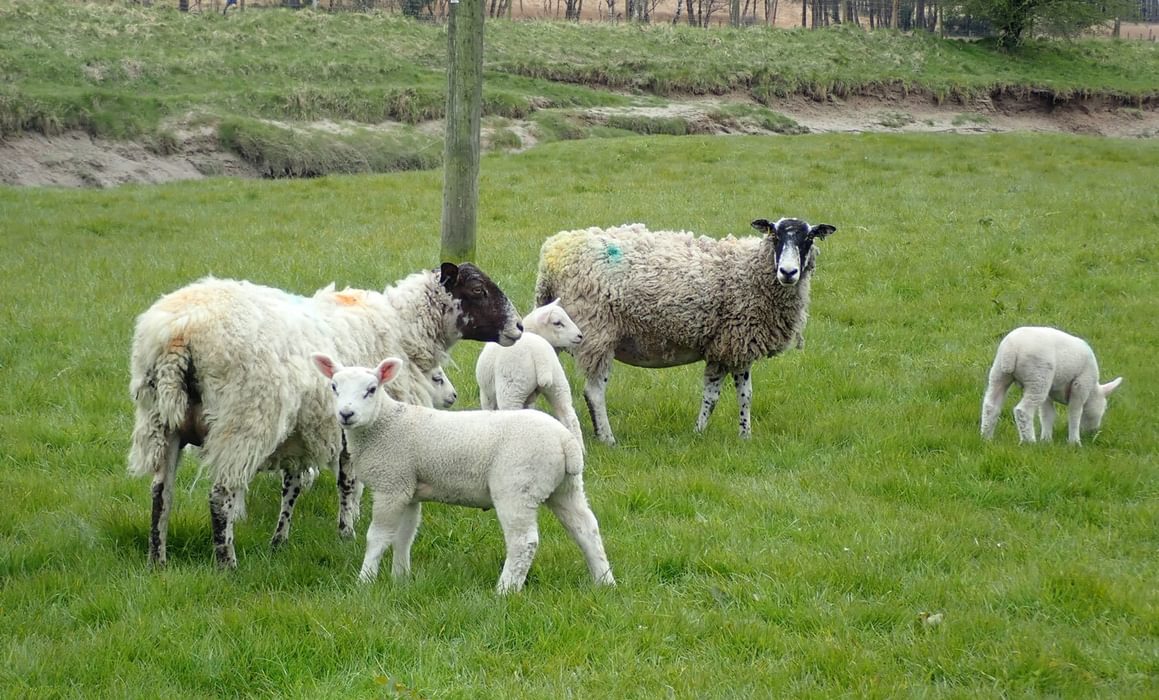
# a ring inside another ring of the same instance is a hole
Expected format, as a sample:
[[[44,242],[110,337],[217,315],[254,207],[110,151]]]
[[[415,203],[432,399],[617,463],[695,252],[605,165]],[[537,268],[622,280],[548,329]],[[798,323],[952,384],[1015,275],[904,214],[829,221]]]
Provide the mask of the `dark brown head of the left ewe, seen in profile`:
[[[523,335],[523,322],[506,294],[471,263],[443,263],[439,284],[451,298],[455,331],[468,341],[512,345]]]

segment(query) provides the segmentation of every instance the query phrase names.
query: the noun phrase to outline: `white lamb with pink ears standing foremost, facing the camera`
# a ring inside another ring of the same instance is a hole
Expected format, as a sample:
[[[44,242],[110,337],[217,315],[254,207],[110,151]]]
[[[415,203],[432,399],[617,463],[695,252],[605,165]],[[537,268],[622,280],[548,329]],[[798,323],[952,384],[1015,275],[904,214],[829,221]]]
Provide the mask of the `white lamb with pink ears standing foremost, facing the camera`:
[[[373,581],[388,546],[391,571],[410,574],[410,545],[423,501],[495,508],[506,542],[496,590],[518,591],[539,545],[537,511],[546,503],[583,552],[597,584],[615,583],[599,524],[583,491],[583,451],[557,421],[537,410],[438,411],[400,403],[378,388],[404,364],[343,367],[313,355],[337,396],[337,423],[350,458],[370,487],[374,516],[359,578]]]

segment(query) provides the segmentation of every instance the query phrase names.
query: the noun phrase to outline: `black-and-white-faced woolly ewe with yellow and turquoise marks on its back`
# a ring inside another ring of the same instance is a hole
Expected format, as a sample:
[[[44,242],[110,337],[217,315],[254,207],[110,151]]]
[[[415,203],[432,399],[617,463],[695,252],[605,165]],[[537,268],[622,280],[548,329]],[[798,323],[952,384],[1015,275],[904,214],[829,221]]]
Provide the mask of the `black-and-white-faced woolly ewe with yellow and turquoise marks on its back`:
[[[731,374],[741,436],[751,435],[752,363],[800,342],[814,243],[837,231],[800,219],[757,219],[752,227],[765,235],[714,240],[632,224],[564,231],[544,242],[535,299],[563,299],[584,329],[575,357],[600,440],[615,444],[605,403],[612,358],[639,367],[704,360],[698,432]]]

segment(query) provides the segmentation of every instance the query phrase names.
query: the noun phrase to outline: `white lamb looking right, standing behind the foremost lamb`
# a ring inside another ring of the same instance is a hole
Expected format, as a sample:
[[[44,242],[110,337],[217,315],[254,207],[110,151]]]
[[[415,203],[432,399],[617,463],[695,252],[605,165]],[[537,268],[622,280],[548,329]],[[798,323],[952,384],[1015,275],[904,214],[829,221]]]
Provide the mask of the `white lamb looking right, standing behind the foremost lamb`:
[[[575,349],[583,334],[557,299],[524,316],[523,331],[513,345],[483,345],[475,363],[480,403],[487,410],[531,408],[542,394],[552,414],[582,446],[580,418],[571,406],[571,385],[556,350]]]

